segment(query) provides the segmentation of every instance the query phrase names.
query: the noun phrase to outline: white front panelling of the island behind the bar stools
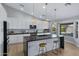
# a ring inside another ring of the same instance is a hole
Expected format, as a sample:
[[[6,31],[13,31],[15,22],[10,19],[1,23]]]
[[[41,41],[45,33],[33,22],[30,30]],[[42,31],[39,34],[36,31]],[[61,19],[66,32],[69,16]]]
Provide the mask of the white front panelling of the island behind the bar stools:
[[[54,39],[47,39],[47,40],[38,40],[38,41],[28,42],[28,56],[35,56],[39,54],[40,43],[46,43],[46,51],[53,50],[53,40]]]

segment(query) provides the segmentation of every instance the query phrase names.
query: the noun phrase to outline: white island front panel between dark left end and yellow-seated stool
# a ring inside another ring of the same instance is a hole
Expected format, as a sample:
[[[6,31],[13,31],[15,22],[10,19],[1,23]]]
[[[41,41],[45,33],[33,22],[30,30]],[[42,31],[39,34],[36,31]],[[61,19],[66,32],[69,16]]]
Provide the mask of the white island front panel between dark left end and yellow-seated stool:
[[[39,41],[32,41],[28,43],[28,55],[34,56],[38,55],[39,52]]]

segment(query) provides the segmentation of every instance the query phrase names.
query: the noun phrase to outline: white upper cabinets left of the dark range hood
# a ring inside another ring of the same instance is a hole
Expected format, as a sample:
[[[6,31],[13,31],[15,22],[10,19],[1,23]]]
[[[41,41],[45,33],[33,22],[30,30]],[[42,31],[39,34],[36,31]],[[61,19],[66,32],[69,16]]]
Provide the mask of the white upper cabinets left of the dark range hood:
[[[32,23],[31,18],[8,18],[9,29],[29,29],[29,25]]]

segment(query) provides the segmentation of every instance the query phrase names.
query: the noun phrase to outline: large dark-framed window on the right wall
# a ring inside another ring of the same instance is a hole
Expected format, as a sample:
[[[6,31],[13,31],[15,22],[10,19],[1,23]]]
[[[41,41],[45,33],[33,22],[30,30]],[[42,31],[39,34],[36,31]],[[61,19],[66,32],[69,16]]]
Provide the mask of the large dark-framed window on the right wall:
[[[73,36],[73,23],[60,24],[60,34]]]

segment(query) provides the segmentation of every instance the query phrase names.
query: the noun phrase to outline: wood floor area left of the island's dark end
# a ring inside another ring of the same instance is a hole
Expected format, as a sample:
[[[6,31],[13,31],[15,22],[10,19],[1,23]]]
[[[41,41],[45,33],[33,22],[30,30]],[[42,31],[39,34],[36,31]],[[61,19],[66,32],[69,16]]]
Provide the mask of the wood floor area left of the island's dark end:
[[[8,47],[8,56],[23,56],[23,43],[10,44]]]

